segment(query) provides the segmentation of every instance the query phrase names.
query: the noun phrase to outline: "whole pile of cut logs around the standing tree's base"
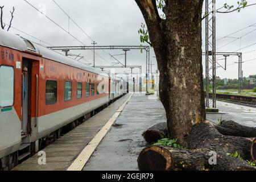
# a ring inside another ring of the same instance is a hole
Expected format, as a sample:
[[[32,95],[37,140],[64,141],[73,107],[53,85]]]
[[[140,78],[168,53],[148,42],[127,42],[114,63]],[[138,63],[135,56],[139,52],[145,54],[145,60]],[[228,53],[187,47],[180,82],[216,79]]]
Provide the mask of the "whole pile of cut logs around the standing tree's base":
[[[158,123],[142,135],[148,143],[157,142],[163,136],[168,135],[167,123]],[[255,138],[256,127],[243,126],[234,121],[221,121],[216,126],[209,121],[205,121],[192,127],[187,139],[188,146],[186,147],[173,148],[152,145],[144,148],[138,157],[138,167],[143,171],[256,171],[256,167],[249,165],[247,162],[256,160]],[[230,156],[234,153],[240,154],[242,159]]]

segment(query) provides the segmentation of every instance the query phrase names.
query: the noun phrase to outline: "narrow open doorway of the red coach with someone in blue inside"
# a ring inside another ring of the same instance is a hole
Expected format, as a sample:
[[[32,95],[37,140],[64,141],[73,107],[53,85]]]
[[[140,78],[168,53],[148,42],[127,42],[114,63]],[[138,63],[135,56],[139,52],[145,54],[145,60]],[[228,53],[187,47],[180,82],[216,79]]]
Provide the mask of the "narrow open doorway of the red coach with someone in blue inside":
[[[23,59],[22,64],[22,135],[26,135],[31,112],[30,112],[30,96],[31,96],[31,62]]]

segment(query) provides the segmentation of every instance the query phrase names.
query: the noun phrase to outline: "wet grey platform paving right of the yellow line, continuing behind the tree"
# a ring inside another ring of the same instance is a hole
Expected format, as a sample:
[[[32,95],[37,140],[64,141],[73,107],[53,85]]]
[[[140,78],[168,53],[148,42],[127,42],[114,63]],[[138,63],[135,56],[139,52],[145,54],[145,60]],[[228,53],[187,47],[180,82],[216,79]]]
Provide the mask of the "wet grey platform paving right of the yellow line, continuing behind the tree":
[[[222,119],[233,119],[243,125],[256,127],[253,122],[256,108],[220,101],[217,101],[217,107],[220,114],[207,114],[210,121],[217,123],[222,115]],[[139,152],[146,147],[143,131],[165,121],[163,105],[156,96],[134,94],[83,170],[137,171]]]

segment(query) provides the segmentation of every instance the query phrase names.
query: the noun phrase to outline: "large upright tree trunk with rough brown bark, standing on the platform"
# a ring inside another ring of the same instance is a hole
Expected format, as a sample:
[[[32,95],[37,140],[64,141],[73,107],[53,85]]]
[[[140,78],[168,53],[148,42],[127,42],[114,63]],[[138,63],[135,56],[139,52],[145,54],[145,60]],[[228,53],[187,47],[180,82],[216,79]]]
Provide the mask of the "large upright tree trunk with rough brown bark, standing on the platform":
[[[201,14],[203,0],[166,1],[166,20],[155,0],[135,0],[148,27],[160,71],[159,95],[172,138],[187,146],[191,127],[205,120]]]

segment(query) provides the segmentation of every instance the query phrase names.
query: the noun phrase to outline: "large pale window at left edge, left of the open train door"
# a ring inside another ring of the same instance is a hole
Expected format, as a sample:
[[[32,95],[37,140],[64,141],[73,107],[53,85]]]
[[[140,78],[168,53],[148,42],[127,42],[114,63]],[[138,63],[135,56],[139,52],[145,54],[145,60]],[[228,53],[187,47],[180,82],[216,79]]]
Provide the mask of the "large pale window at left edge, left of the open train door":
[[[0,107],[12,106],[14,101],[14,69],[0,67]]]

